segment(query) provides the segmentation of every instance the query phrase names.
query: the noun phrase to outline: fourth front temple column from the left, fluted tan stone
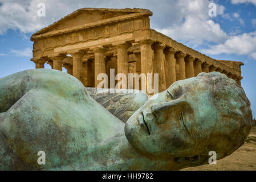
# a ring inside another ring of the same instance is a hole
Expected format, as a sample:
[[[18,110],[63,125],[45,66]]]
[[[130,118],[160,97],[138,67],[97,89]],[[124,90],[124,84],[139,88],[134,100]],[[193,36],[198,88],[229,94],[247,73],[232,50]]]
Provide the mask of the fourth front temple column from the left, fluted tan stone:
[[[101,80],[97,80],[97,76],[100,73],[105,73],[105,48],[96,48],[94,49],[94,87],[97,87],[97,84],[101,82]]]

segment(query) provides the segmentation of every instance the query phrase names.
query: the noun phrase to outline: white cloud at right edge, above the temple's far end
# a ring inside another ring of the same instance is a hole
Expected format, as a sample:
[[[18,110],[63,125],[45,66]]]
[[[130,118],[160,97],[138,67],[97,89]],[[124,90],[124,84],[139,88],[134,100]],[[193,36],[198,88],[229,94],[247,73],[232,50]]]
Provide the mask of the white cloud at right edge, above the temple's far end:
[[[256,60],[256,31],[230,36],[225,43],[210,46],[209,49],[204,49],[202,52],[210,55],[220,53],[247,55]]]

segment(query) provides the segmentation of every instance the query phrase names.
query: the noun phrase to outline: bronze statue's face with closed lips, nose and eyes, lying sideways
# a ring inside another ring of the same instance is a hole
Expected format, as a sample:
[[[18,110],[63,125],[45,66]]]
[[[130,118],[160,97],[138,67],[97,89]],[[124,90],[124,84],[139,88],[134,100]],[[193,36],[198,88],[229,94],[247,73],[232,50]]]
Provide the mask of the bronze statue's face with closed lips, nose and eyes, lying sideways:
[[[200,77],[174,82],[128,119],[125,135],[145,155],[193,157],[216,122],[214,86]]]

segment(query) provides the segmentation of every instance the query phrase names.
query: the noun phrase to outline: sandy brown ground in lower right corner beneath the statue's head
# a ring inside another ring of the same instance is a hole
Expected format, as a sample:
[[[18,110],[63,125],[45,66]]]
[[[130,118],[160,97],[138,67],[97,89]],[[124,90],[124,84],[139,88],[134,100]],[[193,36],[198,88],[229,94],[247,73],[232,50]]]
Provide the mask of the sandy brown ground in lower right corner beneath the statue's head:
[[[182,169],[182,171],[217,171],[217,170],[256,170],[256,127],[251,132],[243,146],[217,164],[206,164],[198,167]]]

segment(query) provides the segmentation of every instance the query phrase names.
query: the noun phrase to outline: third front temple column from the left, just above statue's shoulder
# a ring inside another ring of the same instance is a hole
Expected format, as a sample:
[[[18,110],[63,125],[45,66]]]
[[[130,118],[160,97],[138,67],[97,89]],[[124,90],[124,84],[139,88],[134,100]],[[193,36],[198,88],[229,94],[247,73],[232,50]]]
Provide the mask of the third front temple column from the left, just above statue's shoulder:
[[[82,63],[82,52],[75,52],[71,53],[72,59],[73,59],[73,76],[78,78],[80,80],[80,76],[83,69],[83,63]]]

